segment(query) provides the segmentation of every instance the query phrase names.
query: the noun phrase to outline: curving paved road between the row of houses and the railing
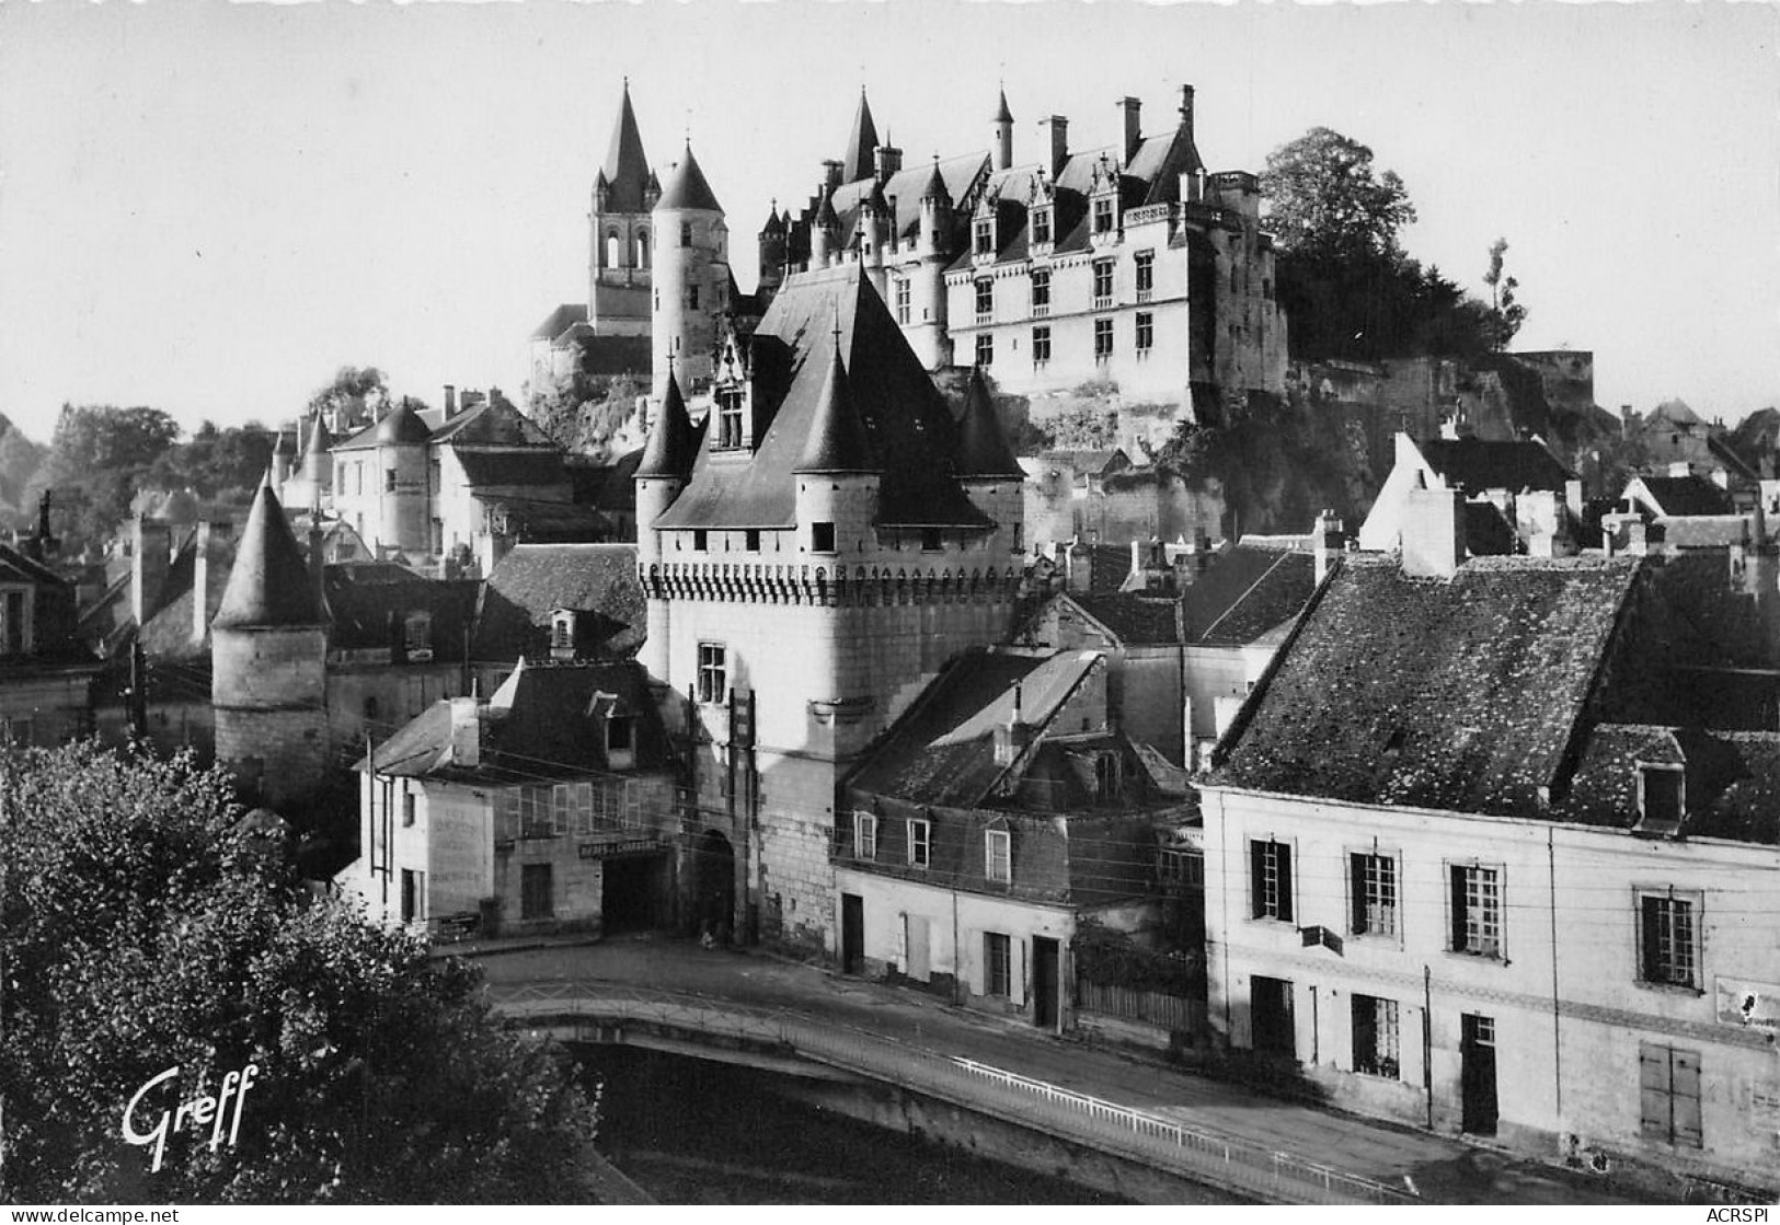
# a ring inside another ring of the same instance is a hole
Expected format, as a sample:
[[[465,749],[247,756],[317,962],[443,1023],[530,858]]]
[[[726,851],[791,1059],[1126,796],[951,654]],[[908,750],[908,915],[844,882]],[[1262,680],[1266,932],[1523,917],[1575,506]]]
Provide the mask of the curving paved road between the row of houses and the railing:
[[[1394,1127],[1104,1047],[1084,1047],[1024,1024],[954,1008],[922,992],[842,978],[756,951],[707,951],[691,941],[616,937],[598,944],[481,942],[468,953],[491,983],[603,980],[696,992],[756,1008],[829,1019],[872,1033],[1139,1108],[1378,1182],[1406,1181],[1442,1204],[1623,1204],[1588,1175],[1445,1136]]]

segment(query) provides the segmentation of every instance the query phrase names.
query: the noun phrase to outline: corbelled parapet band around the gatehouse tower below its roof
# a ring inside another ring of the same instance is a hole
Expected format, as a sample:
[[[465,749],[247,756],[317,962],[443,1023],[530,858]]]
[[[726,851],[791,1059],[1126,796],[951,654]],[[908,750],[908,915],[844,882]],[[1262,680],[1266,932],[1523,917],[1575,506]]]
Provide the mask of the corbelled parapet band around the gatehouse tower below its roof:
[[[993,604],[1020,596],[1020,569],[773,565],[751,562],[666,562],[637,567],[650,599],[705,599],[817,608],[899,604]]]

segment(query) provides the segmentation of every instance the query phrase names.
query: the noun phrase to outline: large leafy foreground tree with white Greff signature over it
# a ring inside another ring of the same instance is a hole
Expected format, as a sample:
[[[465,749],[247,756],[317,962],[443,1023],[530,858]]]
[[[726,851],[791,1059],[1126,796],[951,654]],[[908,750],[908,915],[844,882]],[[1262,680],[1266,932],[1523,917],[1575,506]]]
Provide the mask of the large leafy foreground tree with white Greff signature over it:
[[[488,1015],[465,962],[312,900],[221,772],[7,749],[0,798],[0,1198],[591,1197],[595,1102],[557,1056]],[[148,1136],[249,1065],[228,1143],[185,1120],[157,1172],[123,1141],[139,1092]]]

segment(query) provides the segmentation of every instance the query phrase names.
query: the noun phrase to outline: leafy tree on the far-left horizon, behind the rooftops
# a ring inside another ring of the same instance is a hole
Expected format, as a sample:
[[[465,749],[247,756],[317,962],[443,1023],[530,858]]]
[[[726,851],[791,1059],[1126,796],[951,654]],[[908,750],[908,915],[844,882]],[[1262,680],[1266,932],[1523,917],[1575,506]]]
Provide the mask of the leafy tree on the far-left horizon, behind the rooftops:
[[[52,489],[52,524],[64,548],[101,540],[128,514],[142,476],[178,437],[178,423],[160,409],[64,404],[50,459],[21,510],[34,512],[37,494]]]

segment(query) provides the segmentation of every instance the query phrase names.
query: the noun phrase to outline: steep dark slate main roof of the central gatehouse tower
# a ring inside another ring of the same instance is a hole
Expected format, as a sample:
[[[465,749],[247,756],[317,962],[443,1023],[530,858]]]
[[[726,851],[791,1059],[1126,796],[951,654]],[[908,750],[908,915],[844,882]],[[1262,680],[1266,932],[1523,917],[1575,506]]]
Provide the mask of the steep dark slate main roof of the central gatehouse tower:
[[[803,457],[828,384],[837,322],[853,404],[883,464],[878,521],[988,526],[988,517],[952,476],[958,428],[945,398],[856,263],[787,277],[749,352],[756,420],[769,420],[756,450],[753,455],[714,452],[707,430],[692,480],[657,526],[789,528],[796,523],[792,469]]]

